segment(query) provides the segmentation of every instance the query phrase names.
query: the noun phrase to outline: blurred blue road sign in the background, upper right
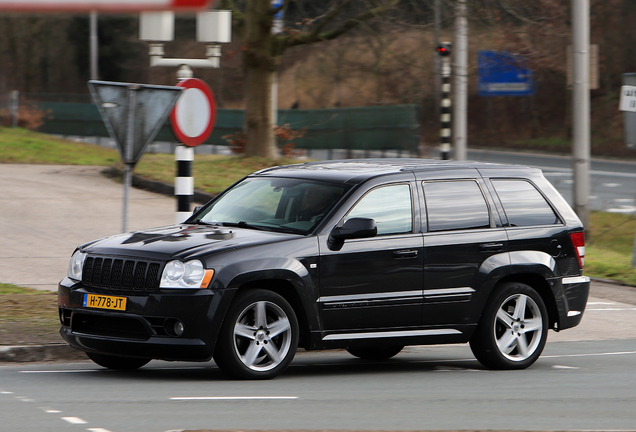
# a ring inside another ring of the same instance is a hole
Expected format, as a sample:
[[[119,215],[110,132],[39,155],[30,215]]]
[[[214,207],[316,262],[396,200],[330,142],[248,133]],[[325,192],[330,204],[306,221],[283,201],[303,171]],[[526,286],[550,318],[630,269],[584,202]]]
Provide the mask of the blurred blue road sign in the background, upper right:
[[[479,96],[530,96],[532,70],[523,58],[505,51],[479,51]]]

